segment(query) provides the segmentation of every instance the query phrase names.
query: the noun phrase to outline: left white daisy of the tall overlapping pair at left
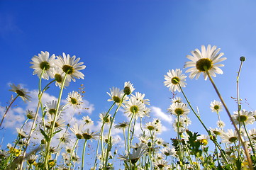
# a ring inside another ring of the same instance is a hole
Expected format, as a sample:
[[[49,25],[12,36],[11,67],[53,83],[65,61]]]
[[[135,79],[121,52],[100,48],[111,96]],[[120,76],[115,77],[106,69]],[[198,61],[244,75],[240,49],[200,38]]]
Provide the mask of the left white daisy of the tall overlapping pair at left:
[[[49,79],[49,75],[53,72],[55,55],[52,55],[50,58],[49,56],[49,52],[41,51],[41,54],[32,57],[32,62],[30,62],[30,64],[33,65],[30,66],[30,68],[35,69],[33,75],[38,74],[38,77],[40,77],[43,72],[42,78]]]

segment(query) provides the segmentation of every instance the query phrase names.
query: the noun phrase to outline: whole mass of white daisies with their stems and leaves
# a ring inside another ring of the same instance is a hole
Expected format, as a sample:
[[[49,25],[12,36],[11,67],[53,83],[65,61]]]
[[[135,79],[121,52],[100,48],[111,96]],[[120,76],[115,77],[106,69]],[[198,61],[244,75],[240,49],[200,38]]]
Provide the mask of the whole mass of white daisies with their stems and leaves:
[[[196,49],[191,55],[187,55],[190,61],[184,65],[188,68],[186,73],[189,73],[191,79],[199,79],[203,74],[205,80],[209,79],[214,84],[211,77],[223,74],[219,68],[223,64],[219,62],[226,58],[222,56],[223,52],[216,46],[202,45],[201,50]],[[247,125],[255,123],[256,111],[245,111],[239,107],[238,111],[229,115],[235,129],[226,129],[220,114],[226,105],[223,101],[215,100],[211,102],[210,108],[218,116],[217,126],[208,128],[184,94],[187,76],[182,73],[182,69],[169,70],[165,75],[164,84],[173,94],[167,111],[174,118],[172,127],[177,134],[169,141],[159,137],[163,128],[161,120],[150,118],[150,100],[145,98],[145,94],[135,92],[130,81],[125,82],[122,89],[113,87],[107,92],[108,101],[112,105],[108,111],[99,114],[98,125],[94,125],[88,115],[75,123],[67,120],[68,106],[72,106],[74,112],[82,109],[84,91],[70,92],[65,104],[62,104],[62,91],[69,86],[70,81],[84,79],[84,74],[80,71],[85,66],[79,60],[65,53],[62,56],[50,56],[49,52],[41,52],[32,58],[30,64],[34,69],[33,74],[39,77],[38,107],[36,111],[27,111],[26,121],[21,128],[16,129],[18,136],[13,145],[9,144],[6,149],[0,150],[2,169],[78,167],[106,170],[116,169],[117,166],[141,170],[252,169],[255,166],[256,129],[249,130]],[[240,60],[245,61],[244,58]],[[42,87],[42,79],[52,80]],[[56,101],[42,103],[43,93],[52,83],[60,87],[60,96]],[[16,97],[12,98],[6,108],[0,128],[16,98],[31,101],[30,93],[21,86],[11,84],[11,91],[16,93]],[[176,91],[184,98],[174,95]],[[240,100],[237,102],[239,105]],[[116,117],[121,112],[127,120],[116,123]],[[227,113],[230,114],[228,111]],[[206,135],[189,130],[190,114],[198,118],[198,127],[206,130]],[[116,131],[113,132],[114,129]],[[123,132],[123,135],[120,137],[116,132]],[[33,135],[40,137],[39,144],[30,142]],[[95,149],[86,154],[86,148],[91,146]],[[86,164],[88,160],[89,165]]]

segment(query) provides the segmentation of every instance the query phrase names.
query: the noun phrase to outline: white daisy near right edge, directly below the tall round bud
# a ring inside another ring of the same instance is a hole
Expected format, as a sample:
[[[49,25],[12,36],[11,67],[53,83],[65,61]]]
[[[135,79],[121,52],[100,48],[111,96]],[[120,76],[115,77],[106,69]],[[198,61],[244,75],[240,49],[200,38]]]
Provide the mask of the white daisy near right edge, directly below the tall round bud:
[[[235,111],[234,114],[232,115],[232,118],[236,125],[238,125],[238,124],[243,125],[243,123],[245,123],[245,125],[247,125],[247,124],[252,124],[255,122],[253,113],[251,111],[245,111],[245,109],[240,111],[239,115],[238,115],[238,111]]]

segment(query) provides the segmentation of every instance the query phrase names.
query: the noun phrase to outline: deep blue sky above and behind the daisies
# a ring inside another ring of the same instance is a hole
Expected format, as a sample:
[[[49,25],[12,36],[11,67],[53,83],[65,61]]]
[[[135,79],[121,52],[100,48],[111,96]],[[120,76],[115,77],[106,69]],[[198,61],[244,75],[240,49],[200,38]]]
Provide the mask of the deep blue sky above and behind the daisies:
[[[87,66],[84,80],[71,83],[65,91],[84,84],[87,100],[99,120],[106,111],[109,88],[123,88],[130,81],[136,91],[150,99],[151,106],[167,114],[172,94],[164,86],[169,69],[183,69],[186,55],[201,45],[216,45],[224,52],[223,75],[214,79],[230,111],[236,109],[235,80],[239,57],[247,58],[240,78],[240,97],[255,105],[256,1],[0,1],[1,106],[6,106],[9,83],[23,84],[29,91],[38,88],[30,60],[40,51],[76,55]],[[185,69],[184,69],[185,71]],[[188,74],[187,74],[188,75]],[[48,93],[57,96],[56,88]],[[209,104],[217,96],[209,81],[187,78],[184,89],[201,118],[215,127],[217,115]],[[179,95],[181,96],[181,95]],[[24,106],[21,100],[16,102]],[[88,113],[84,113],[87,115]],[[221,115],[224,120],[226,113]],[[193,115],[191,130],[202,131]],[[226,124],[229,121],[226,119]],[[172,125],[164,132],[174,137]],[[13,128],[6,128],[13,132]],[[11,137],[10,137],[11,138]],[[13,140],[6,138],[5,140]]]

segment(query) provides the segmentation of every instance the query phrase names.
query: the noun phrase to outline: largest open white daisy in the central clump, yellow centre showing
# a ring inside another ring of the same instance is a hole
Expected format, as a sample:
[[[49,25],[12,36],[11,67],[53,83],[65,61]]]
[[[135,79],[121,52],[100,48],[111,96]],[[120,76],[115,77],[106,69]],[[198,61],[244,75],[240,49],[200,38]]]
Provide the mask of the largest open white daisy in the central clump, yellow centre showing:
[[[145,104],[132,97],[126,102],[125,110],[124,113],[128,113],[128,117],[134,115],[136,120],[138,117],[142,118],[145,115]]]

